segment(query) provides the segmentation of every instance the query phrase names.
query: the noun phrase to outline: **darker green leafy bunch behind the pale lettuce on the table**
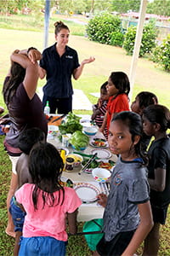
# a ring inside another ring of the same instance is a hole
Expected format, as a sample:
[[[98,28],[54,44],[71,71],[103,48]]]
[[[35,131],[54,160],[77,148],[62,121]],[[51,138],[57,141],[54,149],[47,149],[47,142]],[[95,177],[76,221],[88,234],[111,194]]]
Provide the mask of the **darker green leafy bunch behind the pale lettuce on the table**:
[[[75,131],[82,131],[82,125],[80,124],[80,117],[76,114],[69,112],[66,116],[65,122],[59,125],[60,134],[73,133]]]

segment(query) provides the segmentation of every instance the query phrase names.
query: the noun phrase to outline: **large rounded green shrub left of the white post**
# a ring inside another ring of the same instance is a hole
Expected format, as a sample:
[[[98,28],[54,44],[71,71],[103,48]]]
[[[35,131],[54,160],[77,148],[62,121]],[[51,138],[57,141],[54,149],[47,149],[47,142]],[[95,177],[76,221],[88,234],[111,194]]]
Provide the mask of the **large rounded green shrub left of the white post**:
[[[109,13],[94,16],[88,21],[88,38],[101,44],[111,44],[111,33],[121,32],[121,19]]]

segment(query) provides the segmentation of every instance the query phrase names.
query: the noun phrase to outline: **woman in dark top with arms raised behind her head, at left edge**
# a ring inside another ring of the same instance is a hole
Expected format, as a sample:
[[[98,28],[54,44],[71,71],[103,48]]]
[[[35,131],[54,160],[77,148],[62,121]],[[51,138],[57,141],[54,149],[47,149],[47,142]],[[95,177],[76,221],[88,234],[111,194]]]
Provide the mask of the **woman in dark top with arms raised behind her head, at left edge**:
[[[37,61],[42,57],[35,49],[16,49],[11,55],[11,67],[4,84],[3,99],[8,108],[10,128],[4,140],[4,146],[12,162],[12,177],[8,191],[9,201],[17,188],[16,162],[21,154],[18,147],[20,132],[31,127],[40,128],[47,135],[48,125],[42,111],[42,102],[36,94],[38,80]],[[8,214],[6,233],[14,236],[14,224]]]

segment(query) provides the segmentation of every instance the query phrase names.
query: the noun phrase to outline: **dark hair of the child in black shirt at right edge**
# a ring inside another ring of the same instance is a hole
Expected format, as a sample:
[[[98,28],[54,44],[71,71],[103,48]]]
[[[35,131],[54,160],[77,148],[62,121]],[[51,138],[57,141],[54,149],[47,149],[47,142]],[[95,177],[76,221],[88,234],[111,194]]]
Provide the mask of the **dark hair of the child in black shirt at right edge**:
[[[160,131],[167,131],[170,128],[170,112],[169,109],[162,105],[150,105],[143,111],[144,118],[148,119],[152,124],[159,124]]]

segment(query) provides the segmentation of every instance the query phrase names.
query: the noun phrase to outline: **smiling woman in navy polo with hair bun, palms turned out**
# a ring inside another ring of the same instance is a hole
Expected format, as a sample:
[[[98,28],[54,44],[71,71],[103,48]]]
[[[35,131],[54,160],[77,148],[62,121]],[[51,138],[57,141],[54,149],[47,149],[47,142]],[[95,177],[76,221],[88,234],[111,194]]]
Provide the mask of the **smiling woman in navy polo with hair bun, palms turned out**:
[[[69,113],[72,111],[71,76],[78,79],[85,64],[93,62],[94,57],[79,64],[77,51],[67,46],[70,30],[62,21],[54,23],[56,43],[42,52],[40,79],[46,76],[43,87],[43,108],[49,102],[50,113]]]

